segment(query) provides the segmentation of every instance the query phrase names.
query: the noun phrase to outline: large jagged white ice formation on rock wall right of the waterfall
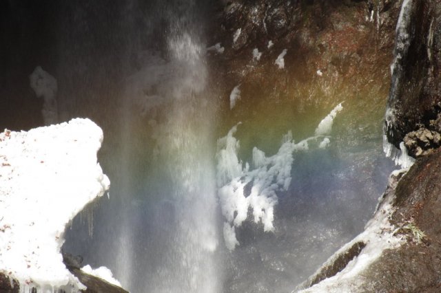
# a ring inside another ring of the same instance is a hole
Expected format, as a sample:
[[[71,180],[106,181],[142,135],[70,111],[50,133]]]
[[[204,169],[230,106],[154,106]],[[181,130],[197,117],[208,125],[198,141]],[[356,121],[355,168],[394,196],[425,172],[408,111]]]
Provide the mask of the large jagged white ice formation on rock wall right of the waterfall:
[[[341,107],[341,104],[338,107]],[[336,110],[339,109],[338,107],[334,108],[328,116],[334,119],[340,111]],[[254,222],[256,224],[261,222],[265,232],[274,230],[274,206],[278,202],[276,192],[287,191],[291,184],[294,153],[307,151],[310,146],[309,142],[316,142],[322,138],[320,134],[295,143],[289,131],[283,136],[280,149],[275,155],[267,157],[263,151],[254,147],[252,168],[250,168],[248,163],[244,166],[238,158],[240,144],[234,137],[234,133],[239,125],[240,123],[236,124],[225,137],[218,140],[216,155],[218,197],[225,217],[223,228],[225,245],[229,250],[234,250],[239,245],[235,227],[242,225],[250,209]],[[331,125],[327,125],[326,129],[330,131],[330,127]],[[329,142],[329,138],[325,137],[318,147],[325,148]]]

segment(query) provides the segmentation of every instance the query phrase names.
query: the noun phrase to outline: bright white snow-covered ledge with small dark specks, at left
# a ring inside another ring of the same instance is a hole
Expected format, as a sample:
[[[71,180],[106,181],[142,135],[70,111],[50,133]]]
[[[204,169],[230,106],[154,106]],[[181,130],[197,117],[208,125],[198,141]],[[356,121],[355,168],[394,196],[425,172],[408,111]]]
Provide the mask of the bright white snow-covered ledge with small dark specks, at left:
[[[0,272],[21,290],[85,288],[61,246],[65,226],[110,186],[96,158],[102,141],[88,119],[0,133]]]

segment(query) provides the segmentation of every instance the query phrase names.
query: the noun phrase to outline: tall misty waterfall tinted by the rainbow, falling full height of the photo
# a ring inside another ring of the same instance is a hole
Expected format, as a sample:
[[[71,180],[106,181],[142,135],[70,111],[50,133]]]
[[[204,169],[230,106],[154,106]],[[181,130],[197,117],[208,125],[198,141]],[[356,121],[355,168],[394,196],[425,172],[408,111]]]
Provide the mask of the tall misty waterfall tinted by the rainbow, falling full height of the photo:
[[[167,235],[163,243],[161,239],[154,239],[155,243],[146,244],[145,253],[152,256],[137,267],[153,267],[152,263],[156,263],[156,268],[145,272],[144,278],[142,273],[141,276],[133,273],[139,256],[130,250],[136,249],[132,246],[139,246],[136,238],[155,237],[155,234],[136,235],[130,221],[123,224],[119,244],[121,259],[116,268],[123,284],[134,292],[220,292],[211,134],[215,109],[214,103],[209,103],[210,92],[206,90],[205,45],[192,19],[196,3],[178,1],[174,4],[176,7],[171,10],[164,8],[169,22],[165,56],[149,50],[143,52],[141,69],[127,78],[123,94],[123,117],[130,121],[131,116],[143,116],[148,120],[144,127],[150,131],[149,140],[154,150],[145,146],[145,151],[152,155],[152,165],[158,167],[159,175],[152,176],[161,182],[156,188],[159,200],[150,203],[158,210],[165,208],[171,219],[163,219],[162,215],[153,219],[152,226],[156,226],[155,229],[162,226]],[[136,133],[130,130],[130,122],[123,124],[129,128],[123,130],[124,140],[130,142],[133,138],[129,136]],[[131,146],[123,151],[127,156],[130,152]],[[130,168],[125,166],[127,172]],[[125,188],[132,193],[129,183],[132,180],[126,182]],[[145,182],[152,180],[145,178]],[[151,187],[145,184],[146,194]],[[140,200],[149,199],[141,197]]]

